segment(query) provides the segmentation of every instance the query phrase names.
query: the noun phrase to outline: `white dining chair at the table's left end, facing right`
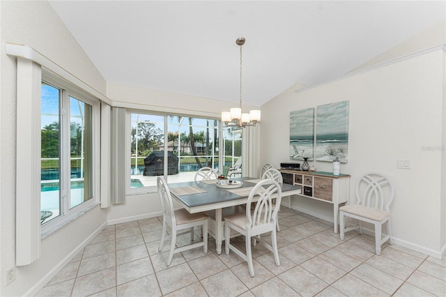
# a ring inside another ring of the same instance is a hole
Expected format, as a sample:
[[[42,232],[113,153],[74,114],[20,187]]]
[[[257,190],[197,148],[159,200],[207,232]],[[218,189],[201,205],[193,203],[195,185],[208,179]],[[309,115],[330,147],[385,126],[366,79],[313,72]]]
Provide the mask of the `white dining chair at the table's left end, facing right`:
[[[171,264],[172,257],[174,257],[174,254],[177,252],[183,252],[202,246],[203,252],[206,254],[208,252],[208,215],[204,213],[189,213],[184,208],[174,211],[174,204],[169,192],[169,187],[162,176],[157,177],[157,188],[162,205],[162,234],[158,251],[162,250],[164,240],[171,237],[167,266]],[[197,226],[201,227],[203,241],[176,248],[176,238],[178,235],[190,232],[190,240],[194,241],[194,227]],[[171,236],[167,236],[167,227],[171,228]],[[177,231],[180,230],[184,231],[177,233]]]

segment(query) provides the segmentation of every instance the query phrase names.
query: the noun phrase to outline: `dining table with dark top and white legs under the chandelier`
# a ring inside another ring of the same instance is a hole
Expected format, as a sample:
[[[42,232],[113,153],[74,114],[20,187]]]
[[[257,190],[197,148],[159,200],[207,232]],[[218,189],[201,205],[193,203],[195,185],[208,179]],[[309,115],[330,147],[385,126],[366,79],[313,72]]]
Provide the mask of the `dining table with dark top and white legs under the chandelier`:
[[[249,192],[261,179],[253,177],[231,178],[230,181],[233,181],[233,185],[220,185],[217,184],[217,181],[215,179],[186,181],[168,183],[168,185],[171,196],[189,213],[204,212],[209,215],[208,233],[215,238],[217,254],[221,254],[222,241],[224,240],[224,216],[245,211],[245,208],[240,206],[247,204]],[[281,183],[280,186],[282,197],[302,193],[300,185]]]

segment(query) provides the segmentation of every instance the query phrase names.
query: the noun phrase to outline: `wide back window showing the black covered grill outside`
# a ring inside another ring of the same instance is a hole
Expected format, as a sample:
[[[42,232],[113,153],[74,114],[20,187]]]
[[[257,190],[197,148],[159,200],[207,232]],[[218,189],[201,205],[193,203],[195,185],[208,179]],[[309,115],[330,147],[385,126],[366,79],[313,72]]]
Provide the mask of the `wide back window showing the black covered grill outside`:
[[[155,186],[164,174],[169,182],[193,181],[201,167],[219,169],[220,121],[141,113],[130,119],[130,188]]]

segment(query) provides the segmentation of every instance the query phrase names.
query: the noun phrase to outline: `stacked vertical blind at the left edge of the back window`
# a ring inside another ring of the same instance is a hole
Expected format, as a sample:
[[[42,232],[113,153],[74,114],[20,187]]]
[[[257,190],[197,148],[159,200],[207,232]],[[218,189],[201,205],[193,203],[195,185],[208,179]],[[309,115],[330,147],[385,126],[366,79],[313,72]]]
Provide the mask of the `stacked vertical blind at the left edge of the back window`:
[[[125,108],[112,110],[112,204],[125,202]]]

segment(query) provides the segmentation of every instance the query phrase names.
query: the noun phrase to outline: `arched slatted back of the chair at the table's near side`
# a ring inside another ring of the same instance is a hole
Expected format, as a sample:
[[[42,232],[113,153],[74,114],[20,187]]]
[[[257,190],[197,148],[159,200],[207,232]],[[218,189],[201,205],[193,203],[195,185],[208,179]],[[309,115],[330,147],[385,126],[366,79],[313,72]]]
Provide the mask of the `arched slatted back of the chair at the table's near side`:
[[[251,213],[251,204],[254,197],[259,197],[259,200]],[[277,199],[275,205],[272,204],[272,199]],[[275,226],[281,199],[282,188],[277,181],[263,179],[263,181],[257,183],[249,193],[247,201],[247,228],[261,227],[263,224],[274,224]]]

